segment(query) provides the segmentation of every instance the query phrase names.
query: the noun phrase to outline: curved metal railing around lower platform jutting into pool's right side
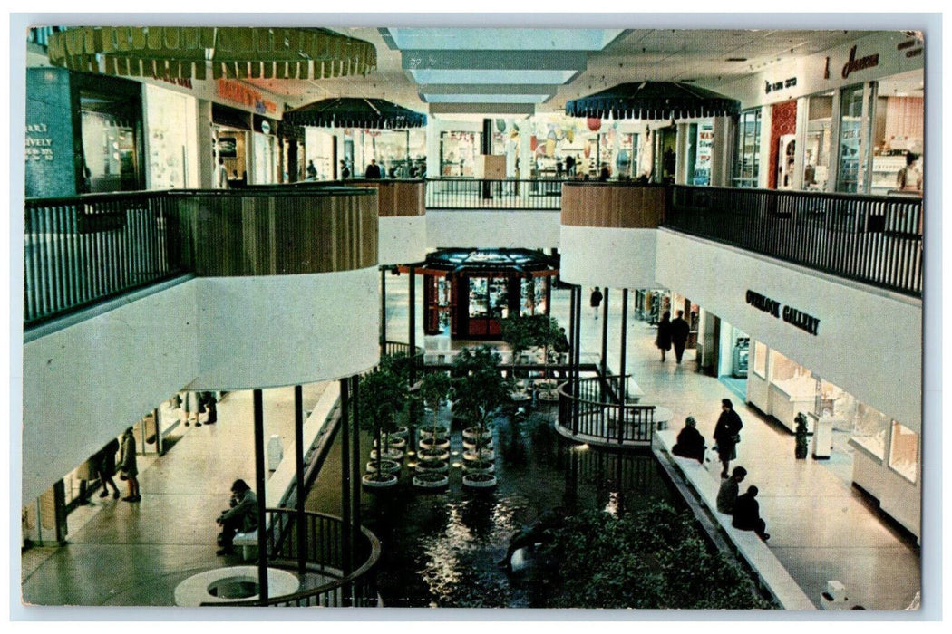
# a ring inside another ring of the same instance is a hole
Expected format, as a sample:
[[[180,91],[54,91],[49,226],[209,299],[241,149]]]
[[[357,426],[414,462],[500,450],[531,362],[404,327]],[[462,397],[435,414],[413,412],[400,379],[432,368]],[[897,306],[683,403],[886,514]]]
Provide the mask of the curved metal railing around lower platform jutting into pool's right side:
[[[654,436],[655,406],[619,401],[620,382],[627,377],[591,376],[559,386],[559,425],[573,435],[618,445],[647,445]]]

